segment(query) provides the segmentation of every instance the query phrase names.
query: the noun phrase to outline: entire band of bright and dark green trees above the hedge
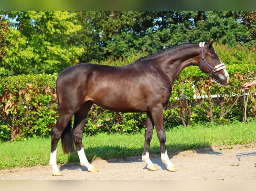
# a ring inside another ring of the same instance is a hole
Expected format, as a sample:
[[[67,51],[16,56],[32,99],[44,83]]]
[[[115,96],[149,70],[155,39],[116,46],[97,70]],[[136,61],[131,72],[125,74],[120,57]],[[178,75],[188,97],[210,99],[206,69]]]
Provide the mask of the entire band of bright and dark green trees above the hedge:
[[[85,62],[216,39],[255,48],[256,11],[0,11],[10,25],[0,75],[58,73]],[[4,25],[4,30],[6,26]],[[238,62],[239,62],[239,58]]]

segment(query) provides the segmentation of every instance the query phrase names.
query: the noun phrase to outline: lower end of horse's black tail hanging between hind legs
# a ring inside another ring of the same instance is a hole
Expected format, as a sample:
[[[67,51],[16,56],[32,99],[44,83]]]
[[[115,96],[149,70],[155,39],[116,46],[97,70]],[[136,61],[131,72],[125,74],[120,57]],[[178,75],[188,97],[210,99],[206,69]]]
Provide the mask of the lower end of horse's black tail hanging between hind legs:
[[[75,152],[74,134],[71,127],[71,120],[61,134],[61,145],[64,153],[69,154]]]

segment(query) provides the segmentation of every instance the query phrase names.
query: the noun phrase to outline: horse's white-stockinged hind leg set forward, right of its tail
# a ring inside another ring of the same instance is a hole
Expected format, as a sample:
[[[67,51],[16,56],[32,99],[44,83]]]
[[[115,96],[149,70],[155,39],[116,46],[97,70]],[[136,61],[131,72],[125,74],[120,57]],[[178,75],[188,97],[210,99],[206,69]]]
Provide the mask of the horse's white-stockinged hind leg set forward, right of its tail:
[[[98,172],[98,169],[88,162],[85,155],[84,147],[82,144],[83,130],[84,130],[86,118],[91,106],[92,106],[91,102],[86,102],[76,112],[75,119],[74,119],[73,132],[74,132],[75,144],[76,144],[77,153],[80,159],[81,166],[87,167],[88,172]]]

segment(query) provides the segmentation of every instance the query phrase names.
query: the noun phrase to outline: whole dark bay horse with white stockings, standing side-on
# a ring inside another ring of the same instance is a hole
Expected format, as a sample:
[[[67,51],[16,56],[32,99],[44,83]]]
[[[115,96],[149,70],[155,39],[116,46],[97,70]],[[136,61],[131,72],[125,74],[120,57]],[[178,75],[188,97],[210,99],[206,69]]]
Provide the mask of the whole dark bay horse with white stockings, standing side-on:
[[[56,165],[57,143],[61,137],[64,153],[74,152],[74,142],[82,166],[97,172],[85,155],[83,129],[93,103],[117,112],[146,112],[145,143],[142,160],[149,170],[158,170],[149,159],[149,144],[155,126],[160,142],[161,159],[168,171],[177,171],[167,155],[163,108],[168,103],[172,83],[187,66],[199,66],[225,85],[229,81],[226,66],[220,61],[212,44],[182,44],[142,57],[126,66],[79,64],[59,73],[56,91],[59,117],[51,131],[50,165],[52,175],[62,173]],[[71,127],[71,118],[74,126]]]

